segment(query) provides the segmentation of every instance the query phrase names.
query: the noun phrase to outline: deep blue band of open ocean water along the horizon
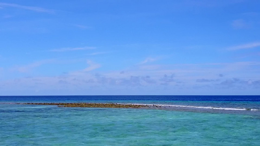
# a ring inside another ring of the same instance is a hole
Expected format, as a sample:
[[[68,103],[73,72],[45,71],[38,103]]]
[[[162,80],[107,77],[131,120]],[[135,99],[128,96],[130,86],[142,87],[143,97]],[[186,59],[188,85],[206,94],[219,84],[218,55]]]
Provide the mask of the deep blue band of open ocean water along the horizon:
[[[88,96],[0,96],[0,101],[88,101],[88,100],[156,100],[156,101],[260,101],[260,95],[88,95]]]

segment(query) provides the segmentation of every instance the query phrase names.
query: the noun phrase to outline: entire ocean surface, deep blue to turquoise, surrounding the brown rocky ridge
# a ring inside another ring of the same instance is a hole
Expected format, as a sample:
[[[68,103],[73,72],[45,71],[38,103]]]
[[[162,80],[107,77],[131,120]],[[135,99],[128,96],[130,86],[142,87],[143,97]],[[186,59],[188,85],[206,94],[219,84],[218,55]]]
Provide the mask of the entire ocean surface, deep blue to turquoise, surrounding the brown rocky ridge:
[[[15,104],[81,102],[161,108]],[[0,96],[0,146],[260,146],[260,96]]]

